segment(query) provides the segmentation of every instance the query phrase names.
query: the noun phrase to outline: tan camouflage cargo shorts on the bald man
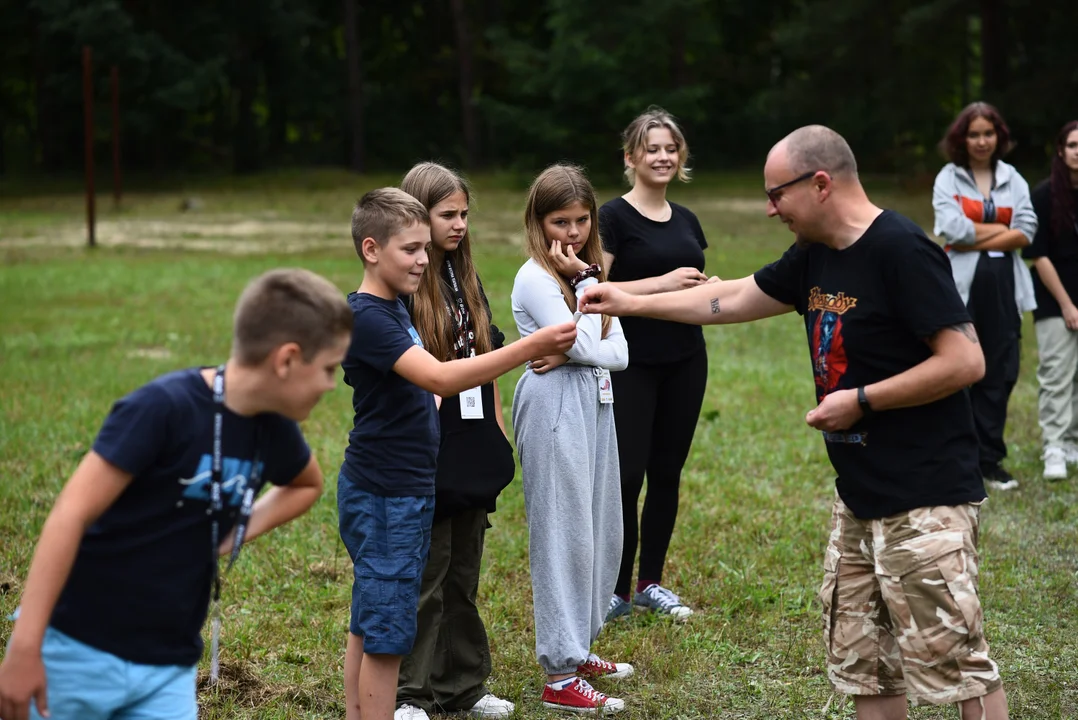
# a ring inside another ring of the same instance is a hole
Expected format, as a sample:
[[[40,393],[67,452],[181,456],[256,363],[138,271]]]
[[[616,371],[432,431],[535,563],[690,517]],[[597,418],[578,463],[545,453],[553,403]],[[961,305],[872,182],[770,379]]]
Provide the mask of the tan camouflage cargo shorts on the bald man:
[[[948,705],[1003,687],[977,595],[979,514],[964,504],[860,521],[835,497],[820,600],[837,692]]]

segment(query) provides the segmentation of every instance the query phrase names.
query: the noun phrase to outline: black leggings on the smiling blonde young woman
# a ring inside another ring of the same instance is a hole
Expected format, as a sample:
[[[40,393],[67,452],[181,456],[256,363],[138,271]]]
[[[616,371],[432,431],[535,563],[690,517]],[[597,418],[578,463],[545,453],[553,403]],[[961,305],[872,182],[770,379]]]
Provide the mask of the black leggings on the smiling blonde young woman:
[[[662,365],[633,365],[613,373],[613,415],[621,465],[625,546],[614,593],[628,595],[636,543],[640,580],[660,582],[677,520],[681,468],[689,457],[707,386],[707,349]],[[636,506],[648,476],[639,531]]]

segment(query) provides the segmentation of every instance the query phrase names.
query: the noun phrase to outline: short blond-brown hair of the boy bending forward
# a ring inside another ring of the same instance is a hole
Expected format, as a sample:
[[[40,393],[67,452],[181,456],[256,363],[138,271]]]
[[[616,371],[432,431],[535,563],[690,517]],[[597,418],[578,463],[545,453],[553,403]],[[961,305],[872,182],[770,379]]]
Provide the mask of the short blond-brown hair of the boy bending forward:
[[[310,362],[351,334],[351,307],[320,275],[300,267],[270,271],[251,280],[233,315],[232,357],[258,365],[270,354],[295,343]]]

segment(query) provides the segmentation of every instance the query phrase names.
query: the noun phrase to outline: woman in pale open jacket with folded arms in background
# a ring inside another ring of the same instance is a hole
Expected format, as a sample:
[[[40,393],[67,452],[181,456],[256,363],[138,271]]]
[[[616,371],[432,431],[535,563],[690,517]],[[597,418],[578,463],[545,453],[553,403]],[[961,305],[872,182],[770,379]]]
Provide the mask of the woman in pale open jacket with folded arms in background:
[[[1019,250],[1037,232],[1029,185],[1001,157],[1010,130],[999,112],[973,102],[951,124],[940,149],[951,161],[936,176],[935,233],[984,350],[984,378],[970,388],[981,472],[997,489],[1018,487],[1007,457],[1007,402],[1018,380],[1022,313],[1034,309],[1033,280]]]

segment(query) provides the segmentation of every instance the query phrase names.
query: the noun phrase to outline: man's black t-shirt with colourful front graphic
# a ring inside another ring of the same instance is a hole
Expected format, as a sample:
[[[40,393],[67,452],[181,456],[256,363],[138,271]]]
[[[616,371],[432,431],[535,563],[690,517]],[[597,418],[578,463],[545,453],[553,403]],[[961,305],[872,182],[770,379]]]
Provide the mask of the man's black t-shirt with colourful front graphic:
[[[817,401],[924,362],[928,337],[970,321],[943,250],[890,210],[844,250],[790,247],[756,281],[804,316]],[[839,496],[862,520],[985,497],[966,391],[824,440]]]

